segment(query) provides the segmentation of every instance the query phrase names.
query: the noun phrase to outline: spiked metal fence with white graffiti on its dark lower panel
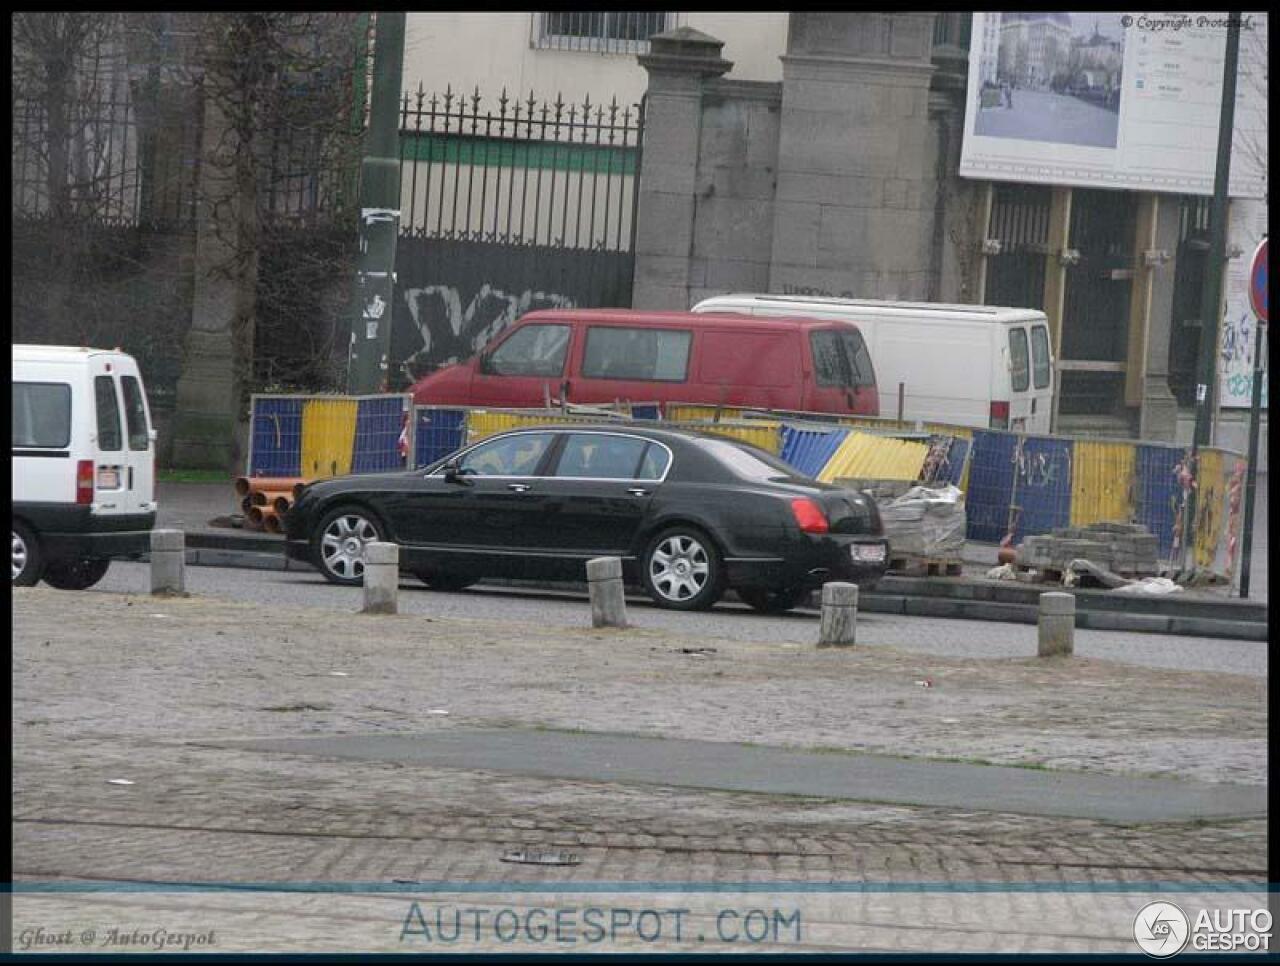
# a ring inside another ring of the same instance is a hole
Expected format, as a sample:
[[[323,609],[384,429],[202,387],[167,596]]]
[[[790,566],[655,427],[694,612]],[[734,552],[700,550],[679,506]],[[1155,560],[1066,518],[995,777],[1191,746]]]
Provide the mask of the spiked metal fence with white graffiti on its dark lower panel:
[[[643,124],[616,99],[404,96],[393,385],[531,310],[631,305]]]

